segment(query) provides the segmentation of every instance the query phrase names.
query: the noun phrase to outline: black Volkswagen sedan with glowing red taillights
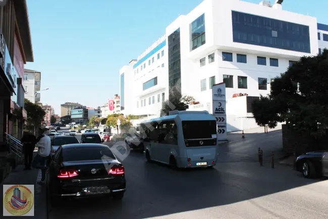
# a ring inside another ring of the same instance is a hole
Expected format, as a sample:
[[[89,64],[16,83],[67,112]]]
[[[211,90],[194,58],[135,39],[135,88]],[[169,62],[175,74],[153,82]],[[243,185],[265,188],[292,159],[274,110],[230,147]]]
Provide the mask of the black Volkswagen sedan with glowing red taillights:
[[[108,195],[121,200],[126,188],[123,165],[101,144],[61,146],[50,161],[47,179],[54,205],[63,197]]]

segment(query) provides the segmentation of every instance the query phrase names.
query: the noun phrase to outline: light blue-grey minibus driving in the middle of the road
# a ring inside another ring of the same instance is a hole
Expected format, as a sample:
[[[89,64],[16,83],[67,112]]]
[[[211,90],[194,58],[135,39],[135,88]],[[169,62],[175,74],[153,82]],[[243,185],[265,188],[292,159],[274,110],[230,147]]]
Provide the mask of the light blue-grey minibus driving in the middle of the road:
[[[213,167],[217,160],[217,126],[207,111],[171,111],[140,123],[148,162],[173,168]]]

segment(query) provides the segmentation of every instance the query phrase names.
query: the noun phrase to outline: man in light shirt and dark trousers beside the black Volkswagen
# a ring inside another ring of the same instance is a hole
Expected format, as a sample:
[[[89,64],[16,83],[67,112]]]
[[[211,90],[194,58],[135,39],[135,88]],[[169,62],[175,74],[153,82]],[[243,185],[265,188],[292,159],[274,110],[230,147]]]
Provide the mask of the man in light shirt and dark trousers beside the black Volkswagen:
[[[46,135],[48,132],[47,128],[39,128],[39,137],[37,139],[38,153],[32,161],[32,167],[41,169],[42,177],[38,184],[44,184],[45,180],[45,170],[46,170],[46,160],[51,152],[51,140],[49,136]]]

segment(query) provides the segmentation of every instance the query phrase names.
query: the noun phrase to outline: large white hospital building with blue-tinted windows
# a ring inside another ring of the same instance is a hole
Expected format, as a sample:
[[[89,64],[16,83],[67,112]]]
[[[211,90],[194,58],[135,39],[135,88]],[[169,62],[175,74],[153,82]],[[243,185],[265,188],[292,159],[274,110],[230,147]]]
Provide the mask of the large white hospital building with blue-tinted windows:
[[[271,79],[300,57],[328,48],[328,25],[283,7],[283,0],[204,0],[179,16],[121,68],[121,113],[159,116],[175,85],[200,102],[190,110],[211,113],[211,86],[225,82],[228,129],[256,126],[250,113],[254,97],[267,95]],[[233,98],[240,93],[248,96]]]

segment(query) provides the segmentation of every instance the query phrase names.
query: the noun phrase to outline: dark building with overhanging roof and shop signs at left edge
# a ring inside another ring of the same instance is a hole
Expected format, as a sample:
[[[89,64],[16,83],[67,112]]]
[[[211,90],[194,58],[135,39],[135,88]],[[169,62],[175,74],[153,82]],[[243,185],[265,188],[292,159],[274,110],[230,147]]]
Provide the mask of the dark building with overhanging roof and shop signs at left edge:
[[[24,109],[24,64],[33,62],[26,0],[0,3],[0,145],[5,133],[20,139]]]

